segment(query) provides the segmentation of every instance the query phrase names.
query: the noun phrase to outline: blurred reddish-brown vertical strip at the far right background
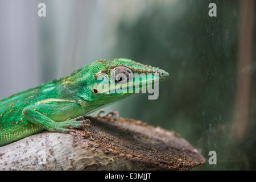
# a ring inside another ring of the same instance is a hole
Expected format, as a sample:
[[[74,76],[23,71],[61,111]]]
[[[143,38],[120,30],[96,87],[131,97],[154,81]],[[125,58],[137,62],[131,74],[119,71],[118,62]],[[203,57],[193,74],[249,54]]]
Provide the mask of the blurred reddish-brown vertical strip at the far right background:
[[[248,125],[253,60],[254,1],[240,0],[240,35],[237,63],[236,104],[231,138],[242,140]]]

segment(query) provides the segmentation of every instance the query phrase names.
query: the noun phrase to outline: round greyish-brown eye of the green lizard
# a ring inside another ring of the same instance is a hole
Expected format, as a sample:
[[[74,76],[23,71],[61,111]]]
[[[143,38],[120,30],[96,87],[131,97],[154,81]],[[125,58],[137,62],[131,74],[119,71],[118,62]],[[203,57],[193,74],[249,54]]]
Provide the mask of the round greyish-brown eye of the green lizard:
[[[129,82],[131,78],[133,78],[131,76],[132,73],[133,71],[131,71],[129,68],[119,66],[112,70],[110,77],[116,84],[125,84]]]

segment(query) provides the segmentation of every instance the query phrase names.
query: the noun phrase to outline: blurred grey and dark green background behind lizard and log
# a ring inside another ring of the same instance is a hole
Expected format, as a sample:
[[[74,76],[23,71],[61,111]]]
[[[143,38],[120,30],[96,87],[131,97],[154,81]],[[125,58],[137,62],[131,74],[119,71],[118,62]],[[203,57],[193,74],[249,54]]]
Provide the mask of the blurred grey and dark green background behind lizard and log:
[[[253,23],[243,23],[235,0],[43,1],[46,17],[37,15],[40,2],[0,2],[0,99],[95,60],[129,58],[170,77],[157,100],[134,94],[107,111],[174,130],[205,157],[194,170],[256,169],[256,3],[245,11]],[[208,15],[211,2],[216,17]]]

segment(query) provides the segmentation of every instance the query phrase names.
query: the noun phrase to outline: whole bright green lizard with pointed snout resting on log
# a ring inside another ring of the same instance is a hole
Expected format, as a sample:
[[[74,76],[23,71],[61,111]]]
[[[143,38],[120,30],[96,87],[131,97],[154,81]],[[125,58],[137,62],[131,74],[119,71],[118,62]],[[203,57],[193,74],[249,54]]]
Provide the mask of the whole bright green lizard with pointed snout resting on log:
[[[89,120],[84,119],[84,115],[133,94],[112,92],[112,86],[100,84],[104,82],[118,88],[122,85],[122,89],[128,89],[128,83],[134,81],[130,75],[135,73],[152,73],[159,77],[159,82],[168,77],[162,69],[128,59],[98,60],[70,76],[3,98],[0,101],[0,146],[44,130],[69,133],[73,130],[68,127],[88,126]],[[145,81],[154,83],[155,78],[150,80],[147,76],[139,83],[139,89]]]

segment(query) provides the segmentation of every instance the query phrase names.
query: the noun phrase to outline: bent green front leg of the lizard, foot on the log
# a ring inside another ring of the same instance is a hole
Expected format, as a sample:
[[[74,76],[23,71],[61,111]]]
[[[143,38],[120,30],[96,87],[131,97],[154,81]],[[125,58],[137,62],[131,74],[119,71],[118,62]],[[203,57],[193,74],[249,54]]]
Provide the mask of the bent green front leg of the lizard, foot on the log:
[[[27,106],[23,109],[22,116],[48,131],[69,133],[72,130],[67,127],[89,126],[89,119],[80,116],[84,112],[84,107],[72,102],[52,102]]]

